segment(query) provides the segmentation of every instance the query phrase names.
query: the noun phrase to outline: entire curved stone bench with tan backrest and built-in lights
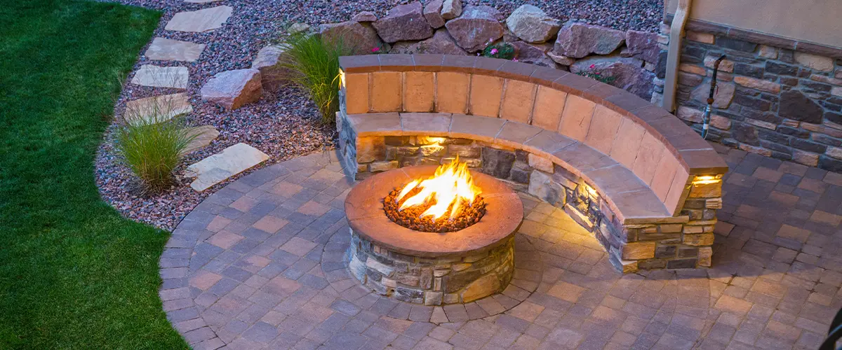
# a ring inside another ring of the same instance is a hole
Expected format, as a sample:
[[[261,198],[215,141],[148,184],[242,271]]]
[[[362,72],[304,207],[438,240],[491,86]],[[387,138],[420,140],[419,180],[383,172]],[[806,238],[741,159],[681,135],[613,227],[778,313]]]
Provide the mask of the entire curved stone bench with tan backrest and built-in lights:
[[[710,266],[727,166],[669,112],[588,78],[482,57],[341,65],[339,143],[357,178],[459,155],[562,207],[624,272]]]

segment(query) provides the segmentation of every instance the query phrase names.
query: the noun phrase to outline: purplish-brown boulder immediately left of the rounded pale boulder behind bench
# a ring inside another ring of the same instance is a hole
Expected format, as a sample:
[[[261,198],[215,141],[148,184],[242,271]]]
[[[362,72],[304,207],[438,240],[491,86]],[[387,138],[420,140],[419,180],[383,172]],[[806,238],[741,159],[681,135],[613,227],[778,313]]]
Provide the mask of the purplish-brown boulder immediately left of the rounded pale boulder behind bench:
[[[503,36],[500,13],[488,6],[467,6],[459,18],[445,24],[456,43],[468,52],[485,49],[489,41]]]

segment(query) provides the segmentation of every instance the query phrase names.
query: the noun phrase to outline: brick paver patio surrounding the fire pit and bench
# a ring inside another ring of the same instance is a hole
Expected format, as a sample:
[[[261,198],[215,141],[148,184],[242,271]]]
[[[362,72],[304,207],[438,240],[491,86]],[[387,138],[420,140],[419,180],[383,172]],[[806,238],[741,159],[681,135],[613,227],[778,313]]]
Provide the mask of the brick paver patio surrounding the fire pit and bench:
[[[719,146],[717,146],[719,147]],[[720,149],[711,269],[619,274],[566,214],[523,195],[503,294],[416,306],[344,263],[334,154],[235,181],[197,206],[161,259],[164,310],[195,348],[813,349],[842,306],[842,176]]]

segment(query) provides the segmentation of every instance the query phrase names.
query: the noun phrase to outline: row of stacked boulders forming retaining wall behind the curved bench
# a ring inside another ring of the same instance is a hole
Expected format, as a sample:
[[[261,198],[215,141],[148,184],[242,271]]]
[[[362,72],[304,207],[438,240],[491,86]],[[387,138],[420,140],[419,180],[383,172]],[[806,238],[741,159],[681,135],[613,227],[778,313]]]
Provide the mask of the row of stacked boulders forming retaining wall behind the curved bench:
[[[322,37],[343,38],[356,53],[479,55],[493,44],[514,47],[514,60],[573,73],[600,73],[610,84],[649,100],[666,60],[658,34],[621,31],[569,21],[523,5],[509,18],[488,6],[434,0],[392,8],[384,18],[360,13],[349,21],[322,24]],[[660,73],[658,73],[660,71]]]

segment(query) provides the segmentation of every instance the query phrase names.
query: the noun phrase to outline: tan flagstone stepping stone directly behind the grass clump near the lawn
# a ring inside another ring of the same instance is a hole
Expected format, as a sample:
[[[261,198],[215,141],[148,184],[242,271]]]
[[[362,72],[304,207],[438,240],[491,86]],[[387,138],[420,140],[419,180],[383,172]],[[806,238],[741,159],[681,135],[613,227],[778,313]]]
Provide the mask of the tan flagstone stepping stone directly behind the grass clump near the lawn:
[[[146,97],[125,103],[123,118],[127,123],[151,124],[166,122],[175,116],[193,112],[184,93]]]

